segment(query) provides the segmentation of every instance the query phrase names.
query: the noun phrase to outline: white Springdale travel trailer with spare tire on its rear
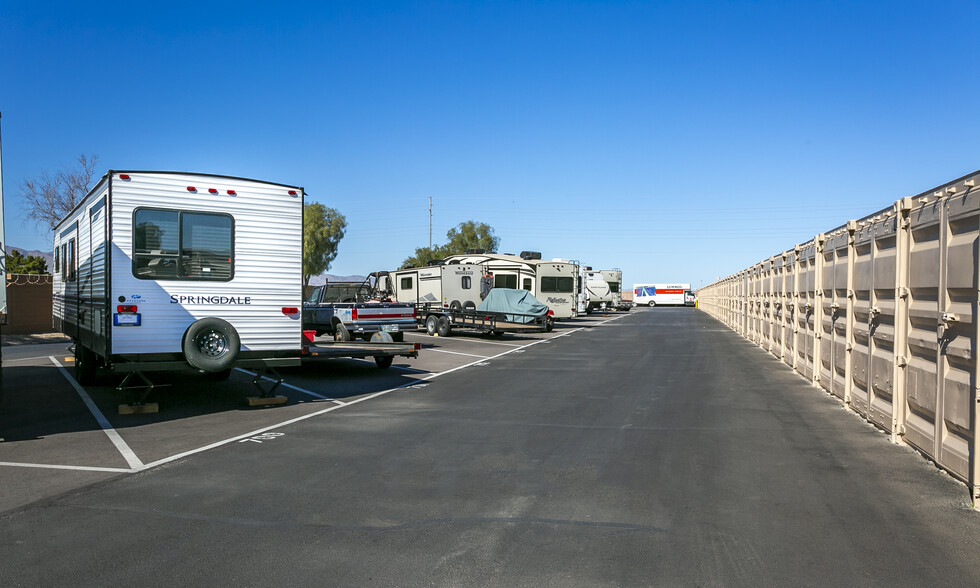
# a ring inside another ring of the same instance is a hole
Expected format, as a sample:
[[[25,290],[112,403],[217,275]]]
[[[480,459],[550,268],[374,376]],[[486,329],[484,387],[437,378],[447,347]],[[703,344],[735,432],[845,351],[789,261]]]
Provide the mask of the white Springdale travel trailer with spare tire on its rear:
[[[298,365],[301,187],[109,171],[54,228],[54,326],[75,371]]]

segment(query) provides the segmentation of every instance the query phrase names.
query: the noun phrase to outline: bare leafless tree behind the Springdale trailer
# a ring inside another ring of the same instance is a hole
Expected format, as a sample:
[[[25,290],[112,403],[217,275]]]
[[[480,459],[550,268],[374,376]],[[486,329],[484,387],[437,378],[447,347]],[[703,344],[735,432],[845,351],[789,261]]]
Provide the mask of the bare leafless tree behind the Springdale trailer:
[[[48,229],[68,216],[88,194],[98,160],[95,155],[79,155],[76,167],[65,168],[54,176],[44,173],[24,180],[21,198],[27,204],[27,218]]]

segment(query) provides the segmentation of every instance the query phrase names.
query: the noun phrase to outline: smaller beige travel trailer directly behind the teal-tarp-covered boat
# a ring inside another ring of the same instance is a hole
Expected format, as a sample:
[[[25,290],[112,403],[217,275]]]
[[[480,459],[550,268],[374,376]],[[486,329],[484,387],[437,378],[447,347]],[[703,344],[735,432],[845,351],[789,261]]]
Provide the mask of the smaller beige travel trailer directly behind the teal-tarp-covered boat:
[[[378,287],[392,292],[398,302],[452,310],[475,309],[493,286],[486,269],[471,263],[439,262],[389,272],[385,279],[388,283]]]

